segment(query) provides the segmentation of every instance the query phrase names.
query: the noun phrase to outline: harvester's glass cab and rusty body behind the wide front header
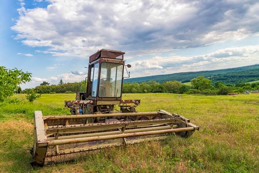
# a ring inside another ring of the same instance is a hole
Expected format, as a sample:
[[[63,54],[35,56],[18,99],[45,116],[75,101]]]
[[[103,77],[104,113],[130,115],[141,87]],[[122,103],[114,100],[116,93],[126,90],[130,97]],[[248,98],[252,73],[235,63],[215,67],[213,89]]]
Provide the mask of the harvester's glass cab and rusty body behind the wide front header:
[[[65,101],[71,114],[114,113],[116,105],[121,112],[136,112],[140,100],[121,100],[124,69],[131,67],[124,63],[121,51],[102,49],[91,55],[85,91],[76,93],[76,100]],[[129,103],[133,105],[126,105]]]

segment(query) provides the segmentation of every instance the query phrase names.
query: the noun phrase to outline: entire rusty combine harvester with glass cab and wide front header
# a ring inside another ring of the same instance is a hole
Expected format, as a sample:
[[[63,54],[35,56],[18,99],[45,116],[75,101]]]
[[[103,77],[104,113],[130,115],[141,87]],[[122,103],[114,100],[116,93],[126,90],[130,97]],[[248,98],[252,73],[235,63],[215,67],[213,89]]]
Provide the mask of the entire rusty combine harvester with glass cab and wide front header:
[[[79,152],[165,139],[170,133],[189,137],[199,130],[181,115],[164,110],[137,112],[140,100],[121,99],[124,69],[129,77],[126,67],[131,67],[124,64],[123,55],[102,49],[90,56],[85,92],[65,101],[72,115],[42,116],[35,111],[32,165],[43,166],[51,158]]]

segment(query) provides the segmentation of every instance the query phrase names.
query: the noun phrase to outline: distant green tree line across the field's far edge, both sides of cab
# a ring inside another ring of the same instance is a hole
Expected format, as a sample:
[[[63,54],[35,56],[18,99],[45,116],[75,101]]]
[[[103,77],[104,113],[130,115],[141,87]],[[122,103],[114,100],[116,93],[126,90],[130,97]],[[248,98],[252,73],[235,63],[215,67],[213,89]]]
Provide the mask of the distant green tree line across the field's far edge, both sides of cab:
[[[24,89],[22,93],[28,93],[31,89]],[[64,83],[62,80],[58,85],[50,85],[43,82],[39,86],[33,88],[37,93],[74,93],[83,92],[85,90],[84,81],[75,83]],[[221,81],[212,83],[210,79],[203,76],[194,78],[189,85],[185,85],[179,81],[165,81],[158,83],[155,81],[143,83],[124,83],[122,87],[123,93],[187,93],[187,94],[205,94],[205,95],[225,95],[231,92],[241,93],[246,90],[259,90],[259,83],[239,83],[224,84]]]

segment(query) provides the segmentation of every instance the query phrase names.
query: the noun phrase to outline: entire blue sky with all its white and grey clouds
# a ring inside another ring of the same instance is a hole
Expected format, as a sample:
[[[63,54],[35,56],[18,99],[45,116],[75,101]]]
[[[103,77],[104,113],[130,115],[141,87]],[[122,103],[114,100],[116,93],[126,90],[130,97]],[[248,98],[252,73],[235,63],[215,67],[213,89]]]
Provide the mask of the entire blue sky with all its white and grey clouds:
[[[0,0],[0,66],[22,88],[85,79],[89,56],[126,52],[131,78],[259,63],[258,0]]]

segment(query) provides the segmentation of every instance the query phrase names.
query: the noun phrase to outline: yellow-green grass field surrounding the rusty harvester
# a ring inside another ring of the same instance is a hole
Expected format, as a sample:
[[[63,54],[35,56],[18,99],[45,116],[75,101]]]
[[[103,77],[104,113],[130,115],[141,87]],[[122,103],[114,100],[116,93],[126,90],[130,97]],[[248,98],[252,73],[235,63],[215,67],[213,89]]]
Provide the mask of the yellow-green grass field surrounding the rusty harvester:
[[[200,127],[188,139],[171,136],[126,147],[85,153],[66,163],[31,167],[35,110],[43,115],[69,114],[63,101],[75,94],[43,94],[34,103],[25,95],[0,103],[0,172],[259,173],[259,94],[203,96],[185,94],[124,94],[141,99],[138,111],[164,109]]]

